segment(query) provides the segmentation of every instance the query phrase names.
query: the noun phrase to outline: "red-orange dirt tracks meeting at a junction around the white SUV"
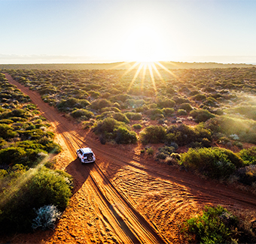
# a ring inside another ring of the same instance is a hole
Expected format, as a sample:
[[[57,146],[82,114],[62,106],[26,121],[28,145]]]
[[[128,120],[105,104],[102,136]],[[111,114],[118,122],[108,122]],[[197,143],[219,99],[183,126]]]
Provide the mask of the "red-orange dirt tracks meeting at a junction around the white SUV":
[[[181,243],[181,223],[206,204],[255,213],[256,196],[159,164],[140,155],[138,145],[103,146],[41,101],[37,92],[6,77],[53,125],[64,149],[56,167],[75,179],[74,195],[56,229],[14,236],[13,242]],[[76,159],[75,149],[81,146],[93,149],[95,164]]]

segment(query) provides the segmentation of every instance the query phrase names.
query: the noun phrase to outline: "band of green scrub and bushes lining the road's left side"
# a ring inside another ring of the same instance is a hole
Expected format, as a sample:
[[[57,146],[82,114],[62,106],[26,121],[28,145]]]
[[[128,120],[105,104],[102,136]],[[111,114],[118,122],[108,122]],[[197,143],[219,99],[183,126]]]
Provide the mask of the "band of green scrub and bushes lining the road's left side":
[[[0,85],[0,98],[11,94],[8,101],[2,99],[5,109],[0,110],[0,233],[27,232],[32,230],[33,219],[39,223],[39,209],[51,206],[60,214],[66,208],[72,178],[43,166],[42,160],[61,148],[53,142],[54,134],[47,131],[49,124],[35,104],[6,83],[2,74]],[[42,221],[42,229],[55,224],[44,225]]]

